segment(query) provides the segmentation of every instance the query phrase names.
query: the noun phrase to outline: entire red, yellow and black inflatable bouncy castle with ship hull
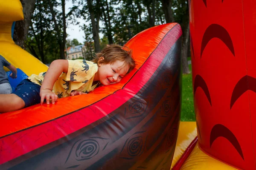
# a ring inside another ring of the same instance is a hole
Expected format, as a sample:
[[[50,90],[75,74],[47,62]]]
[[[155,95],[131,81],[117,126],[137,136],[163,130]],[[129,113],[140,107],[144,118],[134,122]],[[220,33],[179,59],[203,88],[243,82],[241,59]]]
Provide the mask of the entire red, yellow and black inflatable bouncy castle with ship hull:
[[[181,28],[155,26],[127,42],[137,67],[120,83],[0,114],[0,170],[256,169],[255,8],[189,0],[196,122],[180,122]],[[0,55],[25,78],[47,66],[13,42],[22,19],[0,1]]]

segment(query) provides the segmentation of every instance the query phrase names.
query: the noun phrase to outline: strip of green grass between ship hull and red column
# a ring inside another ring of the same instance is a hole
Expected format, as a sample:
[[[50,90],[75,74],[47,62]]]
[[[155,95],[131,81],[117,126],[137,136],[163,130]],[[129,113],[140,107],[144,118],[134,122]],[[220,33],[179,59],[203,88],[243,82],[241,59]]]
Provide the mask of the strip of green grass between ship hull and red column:
[[[191,57],[188,57],[190,60]],[[189,65],[191,72],[191,64]],[[195,121],[194,100],[192,90],[192,75],[183,75],[182,80],[181,121]]]

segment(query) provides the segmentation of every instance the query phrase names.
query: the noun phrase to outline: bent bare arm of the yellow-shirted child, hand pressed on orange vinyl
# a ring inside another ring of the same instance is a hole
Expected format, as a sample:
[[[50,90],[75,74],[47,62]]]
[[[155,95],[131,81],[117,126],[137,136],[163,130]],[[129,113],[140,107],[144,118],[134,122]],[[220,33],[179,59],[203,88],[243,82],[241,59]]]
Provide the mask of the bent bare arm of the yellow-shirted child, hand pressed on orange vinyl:
[[[46,99],[47,104],[50,103],[49,99],[52,99],[52,104],[57,101],[58,96],[52,92],[52,87],[61,73],[67,73],[67,70],[68,61],[66,59],[57,59],[51,63],[44,76],[44,81],[40,89],[41,104],[43,104],[44,99]]]

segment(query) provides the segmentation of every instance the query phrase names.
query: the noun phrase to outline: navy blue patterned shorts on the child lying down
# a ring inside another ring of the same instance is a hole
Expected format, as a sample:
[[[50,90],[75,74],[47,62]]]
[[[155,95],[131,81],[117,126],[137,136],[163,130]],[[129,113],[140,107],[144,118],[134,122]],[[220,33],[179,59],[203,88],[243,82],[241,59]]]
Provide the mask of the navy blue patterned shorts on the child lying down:
[[[40,85],[31,82],[29,79],[24,79],[17,85],[15,92],[25,102],[25,108],[41,102]]]

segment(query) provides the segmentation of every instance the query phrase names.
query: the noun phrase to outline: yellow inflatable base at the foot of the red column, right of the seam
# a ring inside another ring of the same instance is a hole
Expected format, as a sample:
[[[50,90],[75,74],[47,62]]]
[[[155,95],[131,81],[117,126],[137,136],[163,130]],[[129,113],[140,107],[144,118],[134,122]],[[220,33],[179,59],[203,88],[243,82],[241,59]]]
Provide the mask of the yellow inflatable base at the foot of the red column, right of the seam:
[[[214,159],[198,147],[198,143],[186,159],[180,170],[237,170],[227,164]]]

